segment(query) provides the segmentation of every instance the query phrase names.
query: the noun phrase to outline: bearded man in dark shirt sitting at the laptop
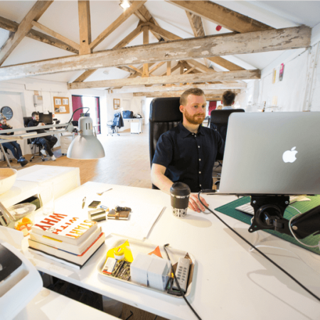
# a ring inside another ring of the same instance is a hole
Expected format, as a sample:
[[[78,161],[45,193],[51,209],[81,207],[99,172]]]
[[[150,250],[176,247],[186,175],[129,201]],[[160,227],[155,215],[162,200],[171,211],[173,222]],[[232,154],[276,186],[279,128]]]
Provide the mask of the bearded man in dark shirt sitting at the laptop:
[[[201,125],[206,117],[206,97],[201,89],[183,92],[180,111],[183,122],[161,134],[156,144],[151,181],[168,194],[174,182],[186,183],[191,189],[189,208],[200,212],[205,208],[196,193],[213,187],[213,165],[217,156],[223,157],[224,142],[218,132]]]

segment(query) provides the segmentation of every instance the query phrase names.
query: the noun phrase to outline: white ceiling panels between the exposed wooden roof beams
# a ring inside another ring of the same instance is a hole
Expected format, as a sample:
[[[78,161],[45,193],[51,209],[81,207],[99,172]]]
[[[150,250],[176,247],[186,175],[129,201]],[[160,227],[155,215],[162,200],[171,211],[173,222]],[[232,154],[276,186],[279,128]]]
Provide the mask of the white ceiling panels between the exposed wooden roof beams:
[[[215,2],[274,28],[286,28],[302,24],[314,27],[316,24],[320,23],[320,1],[217,0]],[[0,0],[0,16],[20,23],[35,3],[36,0]],[[161,28],[171,31],[171,33],[175,33],[181,38],[193,37],[193,31],[186,16],[186,12],[183,9],[180,9],[173,4],[169,4],[164,0],[148,0],[145,6]],[[120,16],[122,12],[123,9],[119,6],[119,0],[90,0],[92,41],[104,31],[110,23]],[[53,4],[51,4],[43,16],[41,16],[39,22],[70,40],[79,43],[78,0],[53,1]],[[137,16],[130,16],[127,21],[124,21],[119,28],[102,41],[102,43],[95,48],[95,51],[113,48],[119,41],[137,28],[138,23],[139,19]],[[203,19],[203,28],[206,35],[230,32],[225,28],[216,31],[216,26],[215,23]],[[8,36],[9,32],[0,28],[0,46],[5,43]],[[149,41],[154,43],[157,42],[157,39],[150,33]],[[135,38],[128,46],[137,46],[140,44],[142,44],[142,35]],[[267,65],[270,65],[270,63],[278,58],[279,55],[282,55],[282,53],[283,51],[250,53],[245,55],[225,56],[224,58],[240,65],[242,68],[263,69],[267,67]],[[72,54],[73,53],[49,46],[31,38],[24,38],[13,53],[9,55],[9,58],[7,58],[4,65],[15,65],[17,63],[58,58]],[[90,78],[87,78],[87,81],[127,78],[129,75],[126,71],[117,68],[107,68],[109,71],[107,74],[103,73],[104,70],[105,69],[96,71]],[[164,65],[159,68],[159,70],[156,70],[154,74],[161,75],[165,70],[166,67]],[[38,76],[36,78],[72,82],[78,78],[81,73],[82,71],[57,73],[54,75]]]

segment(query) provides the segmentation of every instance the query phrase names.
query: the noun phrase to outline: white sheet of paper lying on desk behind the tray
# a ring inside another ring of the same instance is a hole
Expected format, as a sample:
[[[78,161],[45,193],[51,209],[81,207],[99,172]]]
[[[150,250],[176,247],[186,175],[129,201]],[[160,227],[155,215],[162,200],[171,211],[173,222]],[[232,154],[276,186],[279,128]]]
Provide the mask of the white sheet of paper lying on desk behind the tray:
[[[165,209],[163,206],[146,206],[144,204],[137,204],[131,208],[132,213],[129,215],[129,220],[108,219],[102,224],[102,230],[106,236],[114,233],[143,240],[149,235],[151,228],[154,227],[159,215]]]

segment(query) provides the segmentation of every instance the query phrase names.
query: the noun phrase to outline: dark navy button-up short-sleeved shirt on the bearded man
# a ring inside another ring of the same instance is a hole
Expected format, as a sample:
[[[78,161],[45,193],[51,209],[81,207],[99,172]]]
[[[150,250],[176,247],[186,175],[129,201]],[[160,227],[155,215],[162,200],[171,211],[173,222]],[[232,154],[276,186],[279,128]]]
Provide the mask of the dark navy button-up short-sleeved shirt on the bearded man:
[[[153,164],[166,167],[165,176],[173,182],[186,183],[191,192],[211,189],[215,159],[223,159],[224,142],[220,134],[199,126],[196,134],[177,127],[161,134],[156,144]]]

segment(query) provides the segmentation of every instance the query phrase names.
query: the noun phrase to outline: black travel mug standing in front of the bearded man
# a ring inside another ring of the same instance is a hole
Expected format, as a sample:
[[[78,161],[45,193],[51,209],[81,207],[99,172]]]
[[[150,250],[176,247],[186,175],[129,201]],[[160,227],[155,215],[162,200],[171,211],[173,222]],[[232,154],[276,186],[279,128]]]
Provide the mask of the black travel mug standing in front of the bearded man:
[[[170,188],[172,213],[177,218],[186,216],[191,190],[186,183],[175,182]]]

